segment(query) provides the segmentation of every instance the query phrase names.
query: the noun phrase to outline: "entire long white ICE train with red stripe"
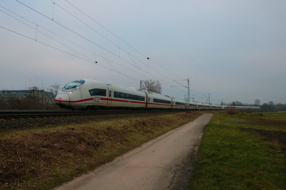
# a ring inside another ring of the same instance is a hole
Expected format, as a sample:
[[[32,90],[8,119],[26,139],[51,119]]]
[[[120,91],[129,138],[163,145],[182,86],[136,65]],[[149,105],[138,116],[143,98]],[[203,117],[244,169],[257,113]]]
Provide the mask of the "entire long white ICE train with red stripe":
[[[72,110],[97,109],[196,109],[220,110],[227,106],[190,102],[134,87],[119,87],[97,81],[80,79],[65,85],[55,97],[59,107]],[[235,107],[234,109],[260,109]]]

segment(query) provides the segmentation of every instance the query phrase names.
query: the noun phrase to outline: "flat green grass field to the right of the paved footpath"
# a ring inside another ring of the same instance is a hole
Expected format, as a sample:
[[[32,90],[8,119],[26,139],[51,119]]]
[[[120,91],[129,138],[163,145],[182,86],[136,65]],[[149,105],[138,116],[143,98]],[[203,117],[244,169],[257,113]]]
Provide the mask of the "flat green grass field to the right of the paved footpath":
[[[285,158],[285,113],[216,113],[189,189],[286,189]]]

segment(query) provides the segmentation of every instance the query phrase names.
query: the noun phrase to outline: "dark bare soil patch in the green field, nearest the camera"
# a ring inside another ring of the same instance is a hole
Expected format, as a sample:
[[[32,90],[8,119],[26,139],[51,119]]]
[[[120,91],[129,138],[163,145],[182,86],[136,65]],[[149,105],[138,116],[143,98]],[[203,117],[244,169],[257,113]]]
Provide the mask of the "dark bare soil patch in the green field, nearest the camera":
[[[239,127],[242,131],[250,132],[251,134],[261,136],[263,140],[280,145],[280,149],[286,158],[286,132],[272,131],[263,129],[243,128]],[[274,148],[274,147],[270,147]]]

